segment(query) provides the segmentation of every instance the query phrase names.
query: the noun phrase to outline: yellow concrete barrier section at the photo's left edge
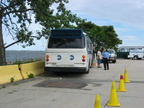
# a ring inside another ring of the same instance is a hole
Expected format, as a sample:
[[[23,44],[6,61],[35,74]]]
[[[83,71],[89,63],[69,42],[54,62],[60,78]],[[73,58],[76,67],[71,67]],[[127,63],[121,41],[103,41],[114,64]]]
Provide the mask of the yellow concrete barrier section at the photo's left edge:
[[[22,80],[18,65],[0,66],[0,84]]]

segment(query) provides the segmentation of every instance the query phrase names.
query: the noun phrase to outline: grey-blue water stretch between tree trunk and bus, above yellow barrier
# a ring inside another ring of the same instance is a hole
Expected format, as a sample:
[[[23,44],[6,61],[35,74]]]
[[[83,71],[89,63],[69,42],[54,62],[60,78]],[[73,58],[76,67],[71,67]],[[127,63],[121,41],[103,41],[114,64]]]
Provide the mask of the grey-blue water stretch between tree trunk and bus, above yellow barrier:
[[[45,51],[6,50],[6,62],[24,61],[28,59],[44,60],[44,57]]]

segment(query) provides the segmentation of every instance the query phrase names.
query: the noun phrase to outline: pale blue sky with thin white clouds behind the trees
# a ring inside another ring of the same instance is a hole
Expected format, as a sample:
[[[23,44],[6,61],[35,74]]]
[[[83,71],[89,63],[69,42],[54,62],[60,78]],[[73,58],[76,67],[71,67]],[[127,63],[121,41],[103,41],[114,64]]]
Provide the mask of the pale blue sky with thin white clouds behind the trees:
[[[144,46],[144,0],[69,0],[66,7],[96,25],[114,26],[118,38],[123,41],[119,46]],[[39,26],[31,28],[40,29]],[[4,40],[11,41],[9,37]],[[35,42],[35,46],[25,49],[16,44],[8,50],[45,50],[44,38]]]

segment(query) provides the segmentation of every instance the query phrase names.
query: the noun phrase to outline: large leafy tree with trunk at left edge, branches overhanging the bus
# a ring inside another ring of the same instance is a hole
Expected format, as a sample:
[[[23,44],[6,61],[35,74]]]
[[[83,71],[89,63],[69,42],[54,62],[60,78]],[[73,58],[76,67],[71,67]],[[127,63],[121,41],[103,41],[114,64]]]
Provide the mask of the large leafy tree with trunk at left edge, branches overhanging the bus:
[[[54,28],[73,27],[84,20],[65,8],[68,0],[1,0],[0,1],[0,65],[4,65],[5,49],[15,43],[34,45],[34,38],[47,37]],[[53,8],[52,8],[53,7]],[[29,30],[33,21],[42,26],[37,35]],[[3,29],[6,27],[15,42],[4,43]]]

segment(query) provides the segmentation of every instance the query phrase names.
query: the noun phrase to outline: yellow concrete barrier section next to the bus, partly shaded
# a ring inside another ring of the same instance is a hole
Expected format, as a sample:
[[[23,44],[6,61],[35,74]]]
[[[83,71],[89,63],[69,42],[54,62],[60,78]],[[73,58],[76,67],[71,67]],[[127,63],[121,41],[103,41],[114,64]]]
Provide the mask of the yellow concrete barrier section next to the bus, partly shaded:
[[[34,76],[44,72],[44,62],[34,62],[19,65],[20,71],[24,79],[29,78],[30,74]]]

